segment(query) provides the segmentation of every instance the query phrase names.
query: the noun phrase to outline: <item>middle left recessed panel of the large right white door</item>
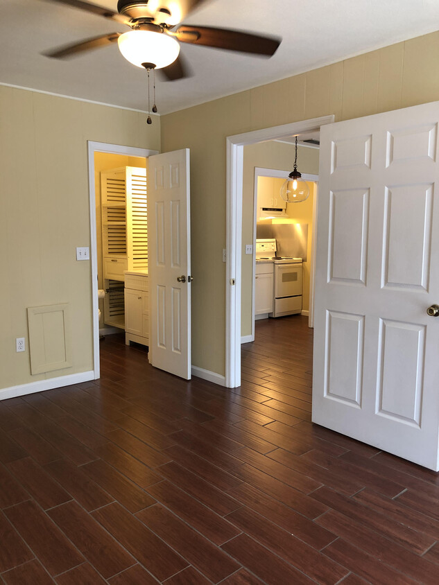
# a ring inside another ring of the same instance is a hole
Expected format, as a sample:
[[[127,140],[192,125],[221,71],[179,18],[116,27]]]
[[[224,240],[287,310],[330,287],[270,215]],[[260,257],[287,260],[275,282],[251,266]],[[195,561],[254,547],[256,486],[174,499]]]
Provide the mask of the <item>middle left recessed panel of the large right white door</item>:
[[[365,284],[368,215],[368,189],[331,193],[329,281],[344,281],[360,286]]]

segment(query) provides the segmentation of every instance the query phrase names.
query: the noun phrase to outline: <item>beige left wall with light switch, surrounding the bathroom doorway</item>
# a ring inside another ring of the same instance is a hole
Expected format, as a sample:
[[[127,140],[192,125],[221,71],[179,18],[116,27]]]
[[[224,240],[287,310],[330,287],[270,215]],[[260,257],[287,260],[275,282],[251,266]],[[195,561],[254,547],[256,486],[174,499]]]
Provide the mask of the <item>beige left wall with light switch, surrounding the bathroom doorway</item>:
[[[145,115],[0,86],[0,388],[93,369],[87,140],[160,148]],[[67,302],[72,367],[31,376],[26,307]]]

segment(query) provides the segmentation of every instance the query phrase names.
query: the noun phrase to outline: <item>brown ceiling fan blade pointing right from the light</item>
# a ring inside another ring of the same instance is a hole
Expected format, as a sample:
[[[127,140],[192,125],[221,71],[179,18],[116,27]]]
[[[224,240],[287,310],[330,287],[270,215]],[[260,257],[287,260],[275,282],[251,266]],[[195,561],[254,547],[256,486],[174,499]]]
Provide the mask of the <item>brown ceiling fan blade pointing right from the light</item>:
[[[230,30],[228,28],[189,26],[187,24],[182,24],[182,26],[178,27],[175,31],[175,37],[181,42],[268,56],[274,55],[280,44],[280,39],[275,37],[251,35],[250,33],[241,33],[239,30]]]

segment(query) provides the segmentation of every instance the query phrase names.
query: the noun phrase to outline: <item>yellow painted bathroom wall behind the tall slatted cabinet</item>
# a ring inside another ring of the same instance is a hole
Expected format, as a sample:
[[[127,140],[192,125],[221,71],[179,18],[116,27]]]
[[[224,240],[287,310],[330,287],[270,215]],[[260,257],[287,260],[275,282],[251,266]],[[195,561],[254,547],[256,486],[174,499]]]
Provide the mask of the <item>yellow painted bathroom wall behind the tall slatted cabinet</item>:
[[[96,193],[96,251],[98,256],[98,288],[103,288],[103,263],[102,263],[102,213],[101,213],[101,172],[111,171],[121,166],[137,166],[146,168],[146,159],[141,157],[126,157],[124,155],[112,155],[108,152],[94,153],[94,189]],[[101,329],[109,329],[103,322],[103,299],[99,300],[101,310]]]

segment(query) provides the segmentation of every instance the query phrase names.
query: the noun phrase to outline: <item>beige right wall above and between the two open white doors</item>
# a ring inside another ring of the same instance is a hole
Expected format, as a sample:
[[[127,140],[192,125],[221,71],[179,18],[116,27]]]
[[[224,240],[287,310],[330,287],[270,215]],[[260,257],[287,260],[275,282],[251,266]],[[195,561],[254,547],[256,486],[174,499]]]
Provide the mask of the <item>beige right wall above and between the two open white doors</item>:
[[[162,116],[162,150],[191,149],[194,365],[225,372],[225,138],[439,100],[438,54],[432,33]]]

